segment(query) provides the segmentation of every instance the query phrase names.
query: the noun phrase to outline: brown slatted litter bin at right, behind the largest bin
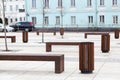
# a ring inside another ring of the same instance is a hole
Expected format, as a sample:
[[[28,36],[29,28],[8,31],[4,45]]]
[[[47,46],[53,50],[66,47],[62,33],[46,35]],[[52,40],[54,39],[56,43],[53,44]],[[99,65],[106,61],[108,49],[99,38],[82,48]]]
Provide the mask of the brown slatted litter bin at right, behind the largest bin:
[[[101,39],[101,50],[102,52],[109,52],[110,50],[110,35],[103,34]]]

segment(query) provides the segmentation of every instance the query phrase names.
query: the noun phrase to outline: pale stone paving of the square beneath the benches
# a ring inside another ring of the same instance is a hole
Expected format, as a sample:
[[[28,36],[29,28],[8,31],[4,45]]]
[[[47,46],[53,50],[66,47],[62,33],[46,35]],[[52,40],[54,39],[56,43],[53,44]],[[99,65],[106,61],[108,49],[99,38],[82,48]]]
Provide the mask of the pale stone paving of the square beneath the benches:
[[[0,33],[0,35],[4,35]],[[45,43],[41,43],[41,34],[29,33],[29,42],[22,42],[22,34],[15,35],[16,43],[7,39],[9,52],[5,52],[4,39],[0,38],[0,53],[9,54],[64,54],[65,71],[54,73],[54,62],[44,61],[0,61],[0,80],[120,80],[120,39],[114,39],[110,33],[111,47],[109,53],[101,52],[101,36],[89,35],[84,39],[84,33],[65,33],[62,39],[59,33],[45,33],[44,41],[91,41],[95,46],[95,69],[92,74],[82,74],[79,70],[78,46],[53,46],[52,52],[45,51]]]

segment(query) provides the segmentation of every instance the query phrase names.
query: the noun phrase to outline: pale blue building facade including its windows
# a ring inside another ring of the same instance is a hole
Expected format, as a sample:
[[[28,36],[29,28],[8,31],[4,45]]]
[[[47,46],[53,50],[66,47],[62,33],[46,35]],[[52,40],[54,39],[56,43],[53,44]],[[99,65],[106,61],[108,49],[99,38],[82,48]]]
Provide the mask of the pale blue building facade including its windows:
[[[120,27],[120,0],[25,0],[36,27]]]

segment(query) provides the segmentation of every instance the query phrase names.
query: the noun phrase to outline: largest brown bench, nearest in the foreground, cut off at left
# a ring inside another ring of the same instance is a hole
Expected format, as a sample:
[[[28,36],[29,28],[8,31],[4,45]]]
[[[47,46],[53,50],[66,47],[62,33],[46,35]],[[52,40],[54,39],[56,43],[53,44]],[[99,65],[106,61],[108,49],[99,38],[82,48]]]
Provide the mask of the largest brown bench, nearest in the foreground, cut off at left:
[[[64,54],[0,54],[0,60],[55,61],[55,73],[64,71]]]

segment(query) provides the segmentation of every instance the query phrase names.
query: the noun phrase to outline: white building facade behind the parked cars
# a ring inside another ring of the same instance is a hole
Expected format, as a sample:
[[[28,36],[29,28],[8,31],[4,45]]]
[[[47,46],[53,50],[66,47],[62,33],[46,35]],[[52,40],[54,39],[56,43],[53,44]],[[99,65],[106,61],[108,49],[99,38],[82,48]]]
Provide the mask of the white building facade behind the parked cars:
[[[26,20],[24,0],[4,0],[4,9],[8,24]],[[2,10],[1,7],[0,11],[2,12]],[[2,14],[0,16],[2,16]]]

